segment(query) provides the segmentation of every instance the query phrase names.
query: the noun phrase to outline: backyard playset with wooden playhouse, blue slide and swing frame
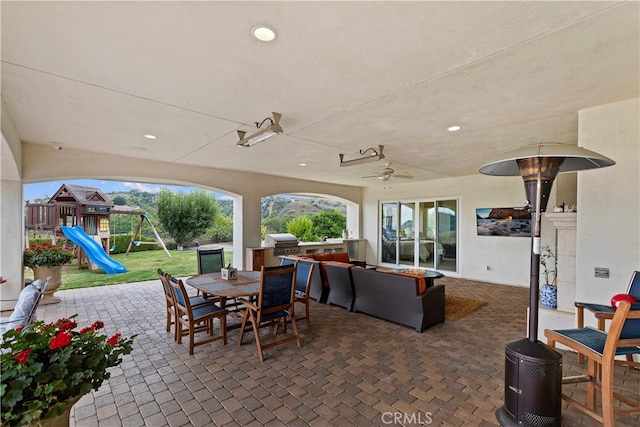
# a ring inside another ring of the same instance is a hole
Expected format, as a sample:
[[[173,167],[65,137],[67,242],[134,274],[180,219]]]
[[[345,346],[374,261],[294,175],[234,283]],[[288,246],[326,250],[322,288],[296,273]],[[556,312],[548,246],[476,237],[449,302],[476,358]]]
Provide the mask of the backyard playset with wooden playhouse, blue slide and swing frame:
[[[98,188],[81,185],[63,184],[46,204],[27,203],[27,242],[29,231],[51,233],[54,243],[58,239],[65,239],[75,244],[79,269],[86,258],[89,268],[102,268],[107,274],[125,273],[125,266],[109,256],[115,249],[115,245],[111,245],[111,215],[140,217],[126,255],[129,255],[133,246],[157,244],[171,257],[145,212],[128,206],[116,206]],[[153,231],[155,241],[136,240],[145,222]]]

